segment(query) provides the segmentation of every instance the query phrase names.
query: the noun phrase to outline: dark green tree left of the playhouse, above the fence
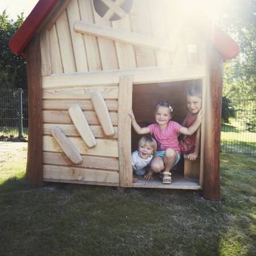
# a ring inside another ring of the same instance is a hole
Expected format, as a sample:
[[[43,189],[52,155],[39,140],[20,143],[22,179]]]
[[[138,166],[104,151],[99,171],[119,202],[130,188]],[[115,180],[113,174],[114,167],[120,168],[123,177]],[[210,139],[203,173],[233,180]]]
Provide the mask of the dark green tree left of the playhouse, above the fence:
[[[0,88],[27,89],[26,62],[9,49],[9,40],[24,21],[23,13],[16,20],[9,19],[6,11],[0,14]]]

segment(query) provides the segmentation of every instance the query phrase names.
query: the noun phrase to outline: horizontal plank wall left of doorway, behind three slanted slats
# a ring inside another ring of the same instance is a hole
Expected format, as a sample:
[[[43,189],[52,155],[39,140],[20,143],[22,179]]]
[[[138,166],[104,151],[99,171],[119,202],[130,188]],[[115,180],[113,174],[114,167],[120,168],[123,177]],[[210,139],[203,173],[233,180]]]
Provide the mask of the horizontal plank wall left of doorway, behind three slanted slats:
[[[114,126],[115,134],[106,137],[90,100],[90,93],[101,92]],[[44,180],[97,185],[119,184],[117,142],[117,86],[91,86],[43,90],[43,178]],[[78,104],[84,113],[97,146],[88,148],[68,114],[69,106]],[[81,164],[73,164],[64,155],[51,135],[52,127],[59,126],[82,156]]]

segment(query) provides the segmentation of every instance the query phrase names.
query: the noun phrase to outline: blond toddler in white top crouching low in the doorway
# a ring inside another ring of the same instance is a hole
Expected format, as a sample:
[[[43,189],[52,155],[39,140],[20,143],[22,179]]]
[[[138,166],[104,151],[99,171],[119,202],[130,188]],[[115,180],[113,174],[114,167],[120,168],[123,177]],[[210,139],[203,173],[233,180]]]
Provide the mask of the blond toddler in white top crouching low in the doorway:
[[[138,143],[138,150],[131,154],[131,165],[134,173],[139,176],[146,174],[146,166],[148,166],[153,158],[153,152],[156,151],[157,144],[154,138],[143,136]],[[133,177],[133,183],[138,179]]]

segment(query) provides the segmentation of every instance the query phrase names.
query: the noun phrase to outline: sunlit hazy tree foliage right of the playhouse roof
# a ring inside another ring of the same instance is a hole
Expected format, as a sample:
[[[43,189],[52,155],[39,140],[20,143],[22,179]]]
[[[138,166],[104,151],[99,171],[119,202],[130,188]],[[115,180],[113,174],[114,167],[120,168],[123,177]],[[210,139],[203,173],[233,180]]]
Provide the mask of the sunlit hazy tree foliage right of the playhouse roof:
[[[226,0],[221,26],[240,45],[241,53],[224,67],[224,96],[249,99],[256,96],[256,1]]]

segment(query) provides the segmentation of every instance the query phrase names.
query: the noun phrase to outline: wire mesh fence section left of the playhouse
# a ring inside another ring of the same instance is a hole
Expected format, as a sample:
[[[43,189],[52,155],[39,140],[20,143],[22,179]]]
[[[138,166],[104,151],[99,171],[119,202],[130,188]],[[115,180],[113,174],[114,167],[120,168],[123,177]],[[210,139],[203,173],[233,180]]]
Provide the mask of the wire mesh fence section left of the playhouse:
[[[0,136],[26,137],[27,128],[27,91],[0,90]]]

